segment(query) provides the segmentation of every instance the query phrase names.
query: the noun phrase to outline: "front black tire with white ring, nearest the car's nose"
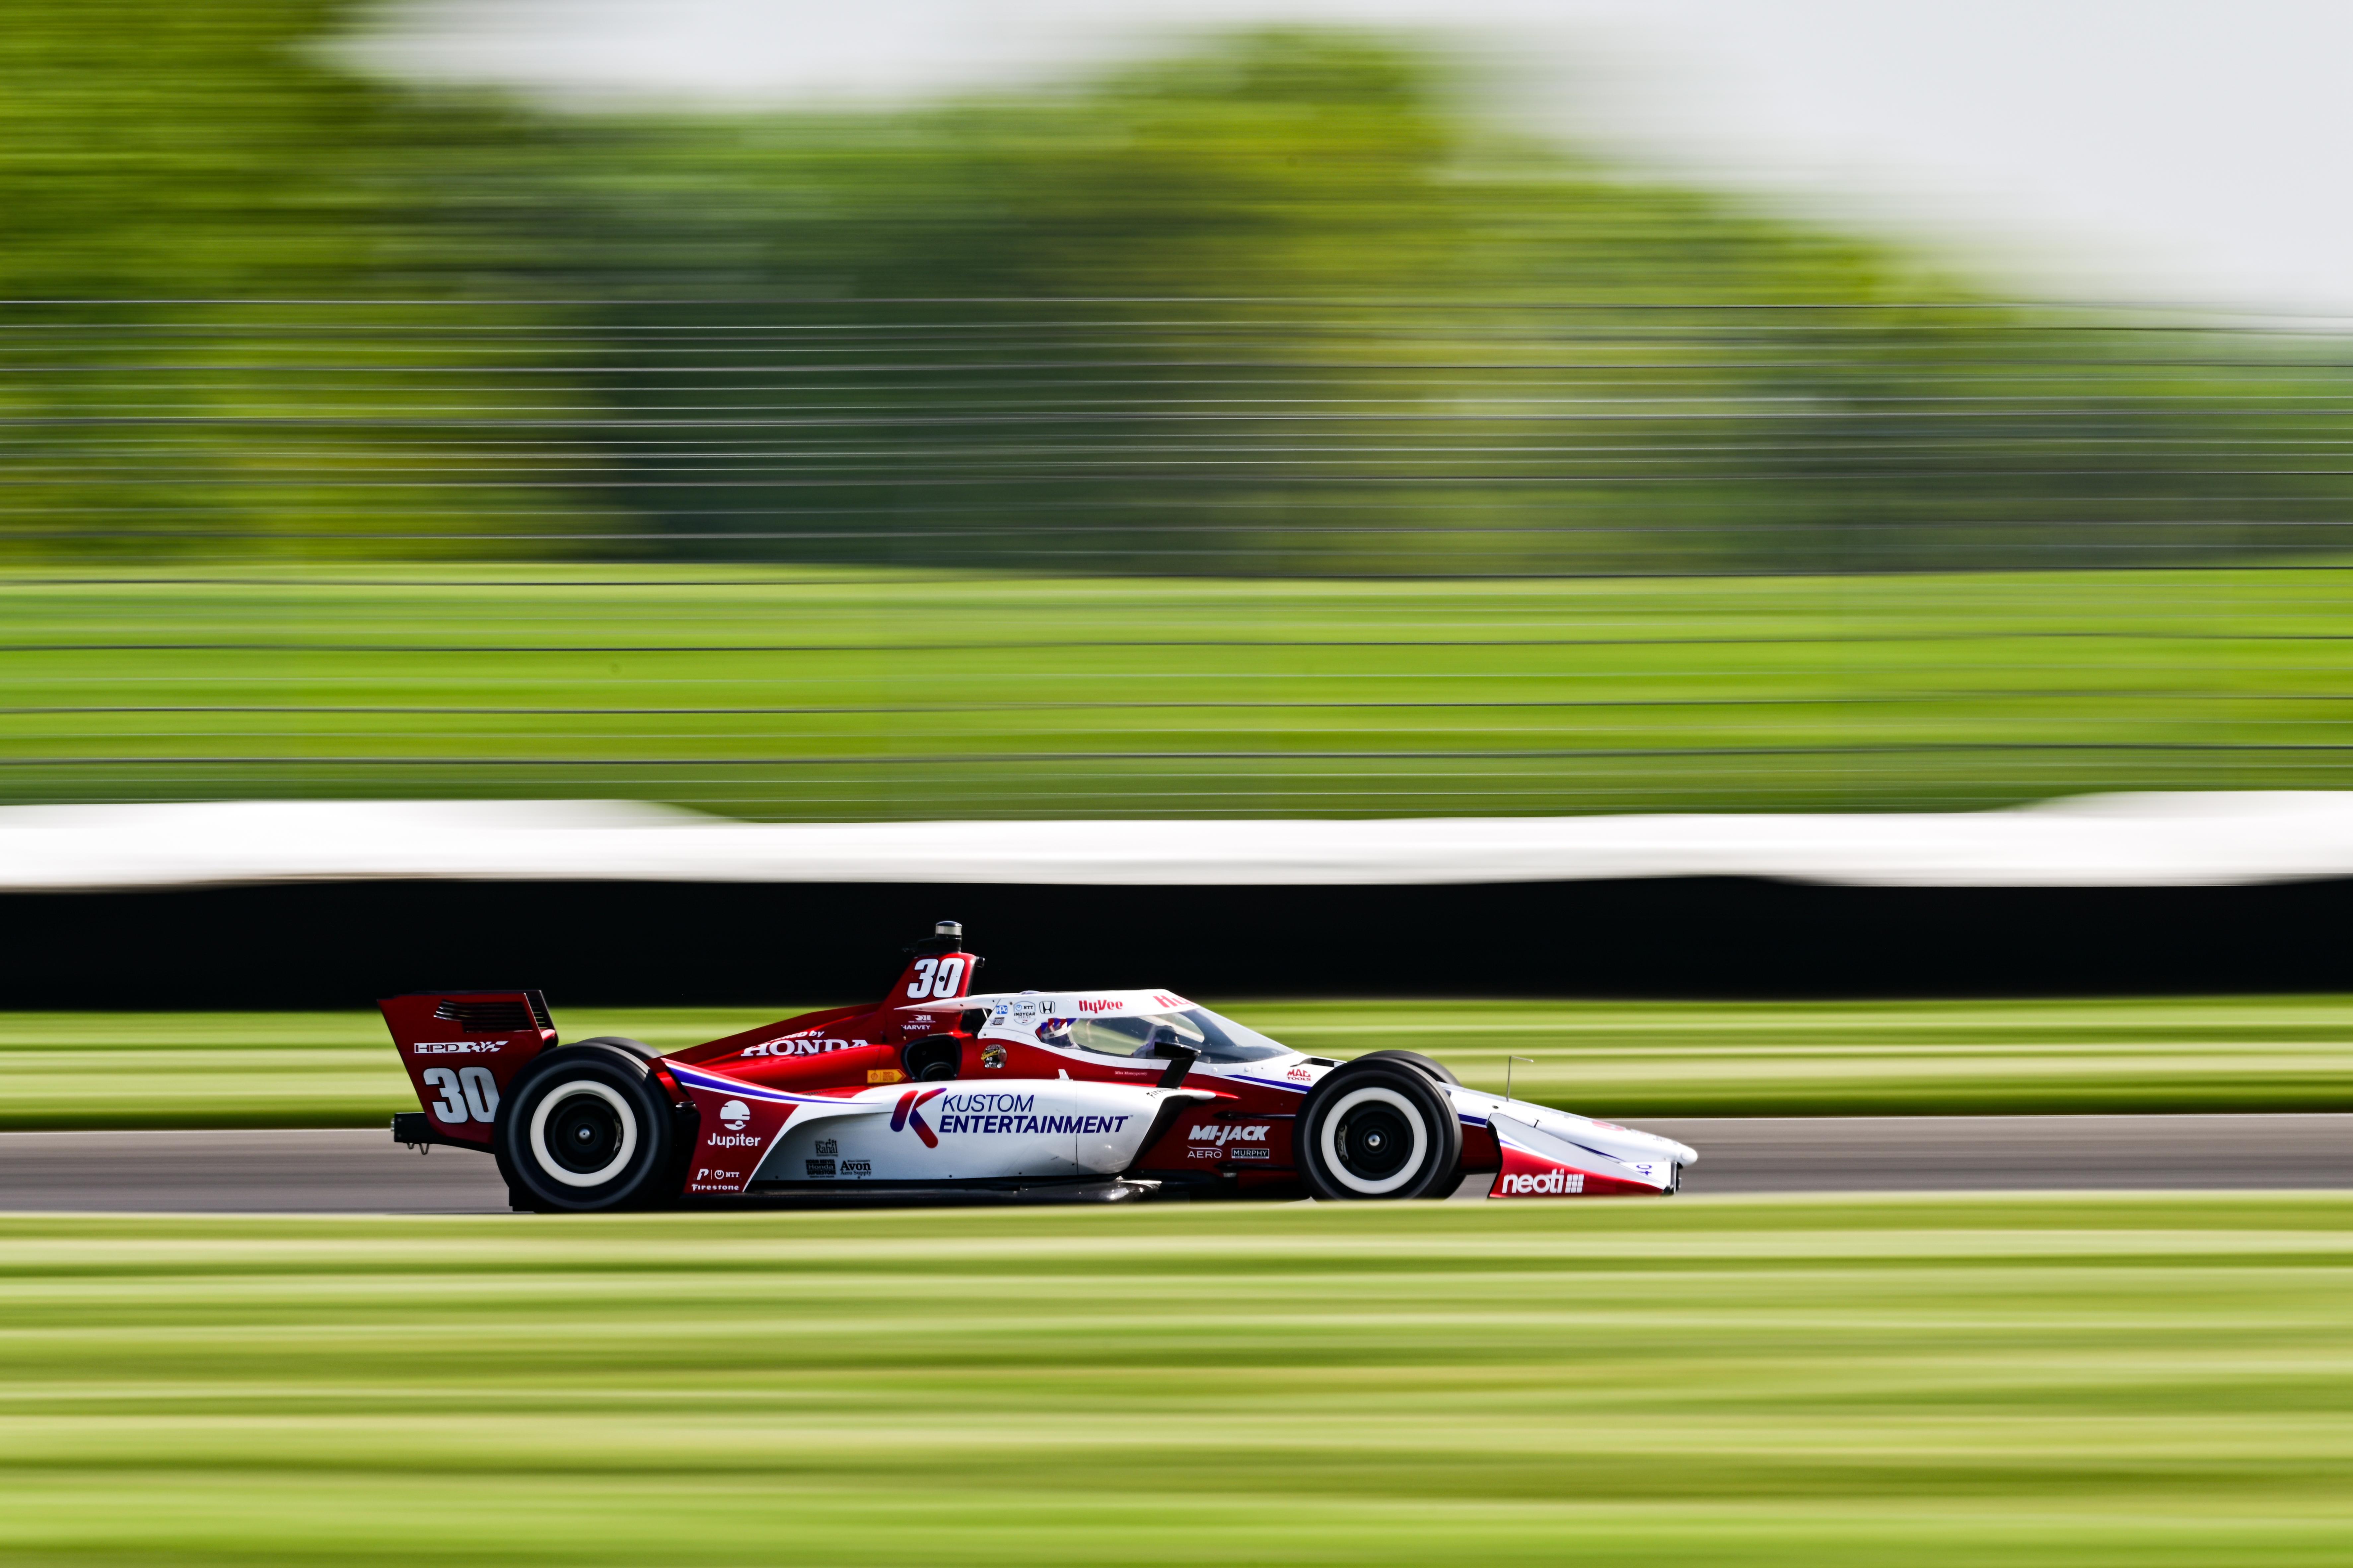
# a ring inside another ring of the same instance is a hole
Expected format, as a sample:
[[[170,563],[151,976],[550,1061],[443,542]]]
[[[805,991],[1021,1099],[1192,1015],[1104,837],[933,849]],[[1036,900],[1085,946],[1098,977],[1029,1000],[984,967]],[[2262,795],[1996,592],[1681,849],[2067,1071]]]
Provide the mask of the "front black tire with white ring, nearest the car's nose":
[[[1299,1107],[1299,1173],[1327,1204],[1428,1199],[1454,1190],[1464,1124],[1421,1067],[1358,1058]]]

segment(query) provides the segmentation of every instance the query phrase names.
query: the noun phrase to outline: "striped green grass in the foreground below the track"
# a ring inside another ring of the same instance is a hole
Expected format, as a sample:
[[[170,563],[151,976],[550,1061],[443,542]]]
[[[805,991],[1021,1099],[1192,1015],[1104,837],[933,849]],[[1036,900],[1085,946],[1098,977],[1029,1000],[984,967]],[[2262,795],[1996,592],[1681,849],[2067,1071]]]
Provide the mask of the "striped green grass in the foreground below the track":
[[[2348,1222],[14,1215],[0,1556],[2334,1566]]]

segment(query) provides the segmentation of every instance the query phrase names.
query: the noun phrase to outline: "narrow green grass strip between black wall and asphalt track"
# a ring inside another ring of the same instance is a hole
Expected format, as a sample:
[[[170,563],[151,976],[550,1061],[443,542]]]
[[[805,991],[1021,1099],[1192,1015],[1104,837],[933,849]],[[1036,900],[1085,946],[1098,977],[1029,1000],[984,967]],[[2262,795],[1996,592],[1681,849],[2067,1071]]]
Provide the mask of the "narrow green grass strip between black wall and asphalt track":
[[[2353,1110],[2353,997],[2078,1001],[1231,1001],[1325,1056],[1409,1048],[1595,1117]],[[786,1016],[562,1009],[680,1048]],[[381,1126],[374,1013],[0,1013],[0,1128]]]

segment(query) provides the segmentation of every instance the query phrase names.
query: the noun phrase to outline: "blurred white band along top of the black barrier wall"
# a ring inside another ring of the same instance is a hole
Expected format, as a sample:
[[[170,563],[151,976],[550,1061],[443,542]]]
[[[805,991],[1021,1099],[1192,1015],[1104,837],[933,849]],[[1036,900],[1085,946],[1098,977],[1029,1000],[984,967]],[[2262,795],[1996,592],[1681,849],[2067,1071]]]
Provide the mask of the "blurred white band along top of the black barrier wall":
[[[0,889],[301,879],[1445,884],[1781,877],[2198,886],[2353,875],[2353,792],[2007,811],[1393,820],[734,823],[633,802],[0,809]]]

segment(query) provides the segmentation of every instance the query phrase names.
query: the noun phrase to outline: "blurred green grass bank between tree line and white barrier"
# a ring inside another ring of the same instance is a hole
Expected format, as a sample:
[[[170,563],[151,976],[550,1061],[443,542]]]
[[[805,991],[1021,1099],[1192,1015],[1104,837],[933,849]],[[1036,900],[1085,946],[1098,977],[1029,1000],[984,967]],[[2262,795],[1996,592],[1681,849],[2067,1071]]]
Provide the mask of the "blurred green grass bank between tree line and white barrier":
[[[0,799],[1485,816],[2344,788],[2348,611],[2332,564],[12,571]]]

